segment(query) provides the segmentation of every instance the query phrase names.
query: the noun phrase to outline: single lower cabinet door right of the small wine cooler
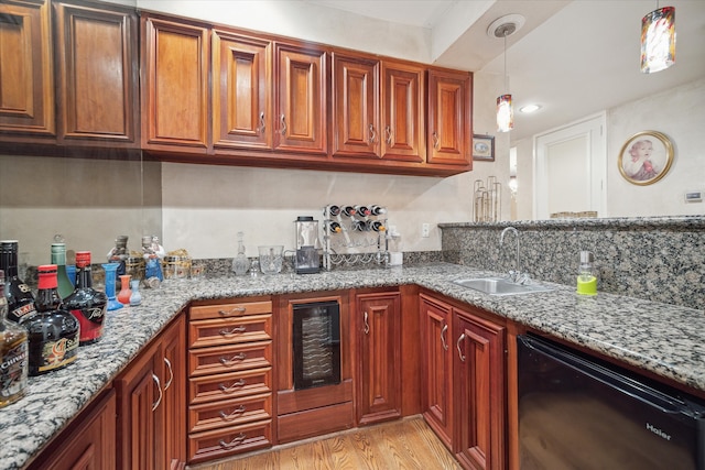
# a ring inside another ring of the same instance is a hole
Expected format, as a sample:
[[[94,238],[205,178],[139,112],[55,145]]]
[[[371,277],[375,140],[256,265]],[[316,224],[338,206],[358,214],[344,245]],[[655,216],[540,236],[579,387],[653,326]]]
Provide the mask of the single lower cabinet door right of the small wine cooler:
[[[399,293],[357,296],[358,424],[401,416]]]

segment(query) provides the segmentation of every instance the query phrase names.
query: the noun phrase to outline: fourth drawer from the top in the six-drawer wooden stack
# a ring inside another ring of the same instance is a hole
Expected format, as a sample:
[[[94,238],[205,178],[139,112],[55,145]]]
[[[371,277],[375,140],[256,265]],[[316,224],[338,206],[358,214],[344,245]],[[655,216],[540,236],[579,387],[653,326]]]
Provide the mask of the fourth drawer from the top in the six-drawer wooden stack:
[[[188,380],[191,404],[272,392],[272,368],[206,375]]]

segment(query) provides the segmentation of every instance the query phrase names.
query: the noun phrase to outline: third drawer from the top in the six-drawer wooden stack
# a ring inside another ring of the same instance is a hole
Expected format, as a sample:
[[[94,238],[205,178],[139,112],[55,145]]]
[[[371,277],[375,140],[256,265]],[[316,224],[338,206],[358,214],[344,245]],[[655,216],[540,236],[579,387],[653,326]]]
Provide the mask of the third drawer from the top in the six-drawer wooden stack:
[[[272,341],[200,348],[188,352],[188,373],[191,376],[237,372],[271,365]]]

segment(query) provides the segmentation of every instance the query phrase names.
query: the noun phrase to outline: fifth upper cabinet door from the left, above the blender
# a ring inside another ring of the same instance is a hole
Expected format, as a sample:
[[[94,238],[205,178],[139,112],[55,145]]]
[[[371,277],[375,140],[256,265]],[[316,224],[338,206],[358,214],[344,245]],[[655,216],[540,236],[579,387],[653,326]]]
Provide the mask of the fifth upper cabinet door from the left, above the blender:
[[[275,45],[274,149],[327,155],[327,54]]]

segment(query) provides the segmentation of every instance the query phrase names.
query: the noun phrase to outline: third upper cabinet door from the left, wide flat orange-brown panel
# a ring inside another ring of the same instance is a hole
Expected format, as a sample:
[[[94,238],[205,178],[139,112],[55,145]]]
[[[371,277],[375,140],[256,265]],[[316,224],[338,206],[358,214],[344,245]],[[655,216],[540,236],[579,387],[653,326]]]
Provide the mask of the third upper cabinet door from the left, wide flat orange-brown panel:
[[[145,15],[142,31],[143,149],[205,154],[208,28]]]

